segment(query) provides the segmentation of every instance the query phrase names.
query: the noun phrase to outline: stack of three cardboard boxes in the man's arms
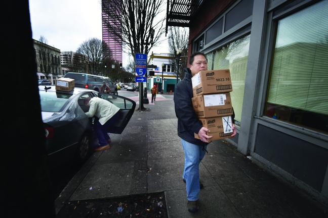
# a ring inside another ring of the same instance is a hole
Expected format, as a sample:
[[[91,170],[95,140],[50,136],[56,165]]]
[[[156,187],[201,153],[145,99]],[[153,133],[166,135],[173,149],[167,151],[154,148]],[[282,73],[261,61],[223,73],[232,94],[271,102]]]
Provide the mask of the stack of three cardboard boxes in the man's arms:
[[[200,71],[192,78],[192,105],[203,127],[211,132],[211,140],[232,134],[232,91],[229,70]],[[198,134],[194,134],[198,138]]]

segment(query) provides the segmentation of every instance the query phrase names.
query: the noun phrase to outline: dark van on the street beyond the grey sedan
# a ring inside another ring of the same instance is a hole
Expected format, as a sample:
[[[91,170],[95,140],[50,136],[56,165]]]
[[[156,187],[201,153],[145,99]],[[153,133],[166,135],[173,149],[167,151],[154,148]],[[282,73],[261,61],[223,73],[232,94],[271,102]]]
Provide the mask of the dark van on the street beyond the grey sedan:
[[[108,77],[74,72],[69,72],[64,77],[74,79],[75,87],[91,89],[97,92],[100,91],[100,86],[102,86],[103,82],[105,82],[110,88],[110,93],[118,95],[116,85],[114,85]]]

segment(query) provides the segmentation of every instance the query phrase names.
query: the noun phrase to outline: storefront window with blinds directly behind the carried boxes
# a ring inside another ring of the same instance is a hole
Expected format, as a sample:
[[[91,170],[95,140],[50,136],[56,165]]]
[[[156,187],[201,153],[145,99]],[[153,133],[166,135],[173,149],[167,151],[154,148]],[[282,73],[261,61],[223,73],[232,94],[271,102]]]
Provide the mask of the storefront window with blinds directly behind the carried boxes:
[[[240,126],[250,35],[233,41],[214,52],[213,70],[229,69],[231,74],[231,101],[235,124]],[[209,58],[209,55],[207,56]]]

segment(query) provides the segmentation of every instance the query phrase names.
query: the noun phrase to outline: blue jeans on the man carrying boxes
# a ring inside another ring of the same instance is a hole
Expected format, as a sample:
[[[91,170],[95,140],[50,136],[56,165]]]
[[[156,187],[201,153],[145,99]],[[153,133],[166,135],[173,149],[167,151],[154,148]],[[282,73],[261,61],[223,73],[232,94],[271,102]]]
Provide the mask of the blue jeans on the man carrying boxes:
[[[185,167],[182,178],[186,180],[187,199],[198,200],[199,194],[199,163],[205,155],[203,146],[191,144],[181,139],[185,152]],[[204,147],[207,148],[207,145]]]

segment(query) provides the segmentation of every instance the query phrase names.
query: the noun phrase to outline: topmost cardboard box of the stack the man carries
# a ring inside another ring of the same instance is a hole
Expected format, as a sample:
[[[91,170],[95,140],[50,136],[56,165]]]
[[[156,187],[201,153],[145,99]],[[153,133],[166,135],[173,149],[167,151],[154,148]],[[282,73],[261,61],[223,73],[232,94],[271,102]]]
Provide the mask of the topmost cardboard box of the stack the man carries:
[[[201,94],[215,94],[232,91],[230,71],[228,69],[200,71],[191,78],[191,81],[194,97]]]

